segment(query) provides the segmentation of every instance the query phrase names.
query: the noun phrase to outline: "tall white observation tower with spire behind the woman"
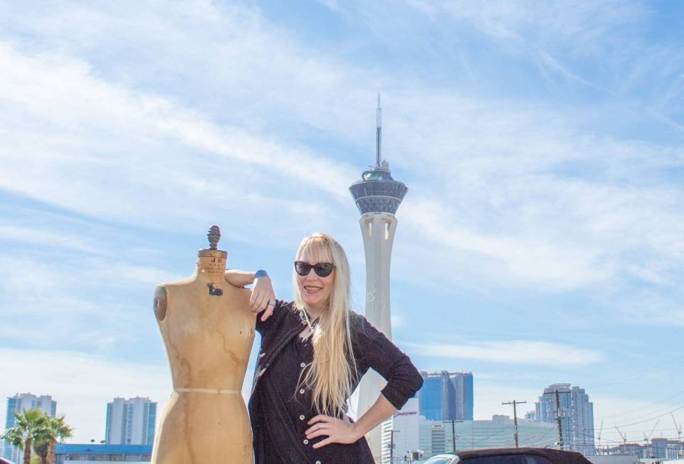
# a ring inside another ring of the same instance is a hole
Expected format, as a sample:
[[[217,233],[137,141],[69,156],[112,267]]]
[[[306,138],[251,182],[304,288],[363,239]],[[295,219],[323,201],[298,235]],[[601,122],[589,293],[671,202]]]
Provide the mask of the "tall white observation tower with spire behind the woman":
[[[389,164],[382,159],[382,113],[380,96],[377,108],[376,163],[364,171],[361,180],[349,187],[361,218],[361,235],[366,252],[366,318],[391,339],[389,306],[389,266],[396,231],[396,210],[408,191],[403,182],[392,178]],[[375,371],[368,371],[359,384],[357,416],[362,416],[375,403],[386,382]],[[381,427],[367,435],[376,463],[381,460]]]

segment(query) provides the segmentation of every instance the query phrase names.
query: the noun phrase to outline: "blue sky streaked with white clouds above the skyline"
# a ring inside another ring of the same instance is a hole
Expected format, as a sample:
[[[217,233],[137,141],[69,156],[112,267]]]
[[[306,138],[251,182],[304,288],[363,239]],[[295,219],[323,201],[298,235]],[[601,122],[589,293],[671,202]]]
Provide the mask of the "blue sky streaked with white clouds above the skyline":
[[[683,9],[1,2],[0,396],[52,394],[76,441],[103,438],[114,396],[163,406],[152,290],[214,223],[285,299],[302,236],[331,233],[362,311],[347,188],[381,92],[409,186],[395,342],[473,371],[475,418],[570,382],[604,443],[642,440],[684,407]]]

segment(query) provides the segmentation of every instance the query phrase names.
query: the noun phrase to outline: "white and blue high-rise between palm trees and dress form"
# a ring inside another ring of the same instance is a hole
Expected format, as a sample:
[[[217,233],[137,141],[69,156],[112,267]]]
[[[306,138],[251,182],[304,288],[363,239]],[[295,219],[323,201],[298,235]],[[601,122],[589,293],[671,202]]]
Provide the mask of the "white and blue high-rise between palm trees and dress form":
[[[157,426],[157,403],[149,398],[115,398],[107,403],[107,445],[152,445]]]

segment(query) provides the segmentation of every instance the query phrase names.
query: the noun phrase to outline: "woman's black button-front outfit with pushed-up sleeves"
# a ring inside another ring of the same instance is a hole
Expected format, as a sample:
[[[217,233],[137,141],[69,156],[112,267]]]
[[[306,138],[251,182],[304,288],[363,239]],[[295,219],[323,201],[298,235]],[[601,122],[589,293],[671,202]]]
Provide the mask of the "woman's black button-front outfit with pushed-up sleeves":
[[[310,339],[298,337],[305,327],[293,304],[280,300],[268,320],[261,322],[261,315],[257,316],[261,350],[249,401],[256,463],[373,463],[365,438],[349,445],[331,443],[318,449],[312,445],[325,436],[307,441],[307,421],[317,412],[312,405],[312,392],[302,385],[303,375],[300,378],[313,360]],[[419,371],[365,317],[352,312],[349,328],[358,371],[352,390],[372,368],[387,381],[383,396],[397,409],[404,406],[423,384]]]

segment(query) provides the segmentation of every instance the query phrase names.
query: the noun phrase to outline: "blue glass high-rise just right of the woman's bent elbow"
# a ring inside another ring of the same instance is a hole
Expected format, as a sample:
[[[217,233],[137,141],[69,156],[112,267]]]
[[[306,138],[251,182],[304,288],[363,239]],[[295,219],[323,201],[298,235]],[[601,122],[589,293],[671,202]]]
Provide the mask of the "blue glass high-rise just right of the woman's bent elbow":
[[[473,420],[473,374],[421,371],[420,412],[428,421]]]

